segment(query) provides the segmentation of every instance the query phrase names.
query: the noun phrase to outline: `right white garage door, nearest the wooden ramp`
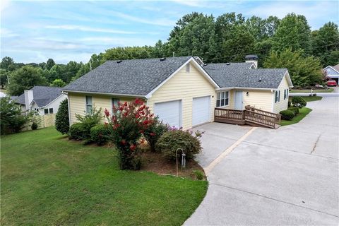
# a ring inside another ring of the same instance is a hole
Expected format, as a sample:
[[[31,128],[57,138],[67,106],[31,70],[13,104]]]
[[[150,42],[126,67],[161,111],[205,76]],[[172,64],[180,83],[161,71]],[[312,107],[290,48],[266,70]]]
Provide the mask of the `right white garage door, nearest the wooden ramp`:
[[[193,98],[192,126],[210,121],[210,97]]]

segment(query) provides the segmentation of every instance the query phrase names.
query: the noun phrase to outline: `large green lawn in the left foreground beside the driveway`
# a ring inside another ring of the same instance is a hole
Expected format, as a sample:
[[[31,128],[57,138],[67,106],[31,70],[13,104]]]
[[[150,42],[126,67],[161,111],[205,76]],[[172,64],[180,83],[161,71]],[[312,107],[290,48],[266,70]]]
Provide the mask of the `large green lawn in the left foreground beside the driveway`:
[[[122,171],[53,127],[1,137],[1,225],[182,225],[208,183]]]

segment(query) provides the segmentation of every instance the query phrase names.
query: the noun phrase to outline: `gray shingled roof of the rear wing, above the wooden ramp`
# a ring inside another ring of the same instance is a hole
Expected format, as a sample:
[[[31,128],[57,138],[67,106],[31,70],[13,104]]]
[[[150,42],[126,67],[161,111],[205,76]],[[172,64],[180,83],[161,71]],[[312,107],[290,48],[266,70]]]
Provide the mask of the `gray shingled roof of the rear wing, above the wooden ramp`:
[[[203,69],[222,88],[278,88],[287,69],[249,69],[251,63],[208,64]]]

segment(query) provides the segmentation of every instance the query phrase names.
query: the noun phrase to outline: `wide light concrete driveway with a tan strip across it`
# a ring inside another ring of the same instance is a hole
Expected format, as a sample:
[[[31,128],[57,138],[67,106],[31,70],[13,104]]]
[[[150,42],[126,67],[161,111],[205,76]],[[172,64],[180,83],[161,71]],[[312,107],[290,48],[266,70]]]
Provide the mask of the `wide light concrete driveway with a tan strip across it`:
[[[338,225],[338,102],[277,130],[199,126],[209,188],[185,225]]]

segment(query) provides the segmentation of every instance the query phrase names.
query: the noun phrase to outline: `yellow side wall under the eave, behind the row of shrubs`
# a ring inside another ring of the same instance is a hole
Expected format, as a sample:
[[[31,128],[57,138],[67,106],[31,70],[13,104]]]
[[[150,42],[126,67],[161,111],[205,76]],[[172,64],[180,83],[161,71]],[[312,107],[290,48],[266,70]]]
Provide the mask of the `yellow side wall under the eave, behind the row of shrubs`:
[[[102,115],[104,115],[104,110],[109,109],[109,112],[112,112],[112,98],[117,98],[121,102],[129,102],[135,100],[135,97],[117,97],[111,95],[93,95],[85,93],[69,93],[69,114],[70,119],[69,123],[74,124],[77,122],[76,114],[85,114],[86,112],[86,95],[92,97],[93,107],[96,109],[102,108]],[[103,119],[105,121],[105,118]]]

